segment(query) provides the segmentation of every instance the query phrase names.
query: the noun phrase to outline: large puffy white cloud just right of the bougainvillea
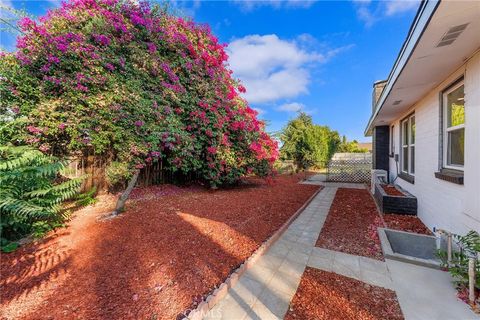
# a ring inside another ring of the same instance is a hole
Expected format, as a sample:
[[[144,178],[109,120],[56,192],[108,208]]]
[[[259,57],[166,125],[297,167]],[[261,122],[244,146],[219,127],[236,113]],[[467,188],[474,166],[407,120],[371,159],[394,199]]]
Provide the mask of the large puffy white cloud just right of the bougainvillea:
[[[271,34],[236,39],[227,51],[234,75],[247,89],[245,98],[250,103],[266,103],[308,93],[310,69],[345,48],[318,53],[304,49],[296,40]]]

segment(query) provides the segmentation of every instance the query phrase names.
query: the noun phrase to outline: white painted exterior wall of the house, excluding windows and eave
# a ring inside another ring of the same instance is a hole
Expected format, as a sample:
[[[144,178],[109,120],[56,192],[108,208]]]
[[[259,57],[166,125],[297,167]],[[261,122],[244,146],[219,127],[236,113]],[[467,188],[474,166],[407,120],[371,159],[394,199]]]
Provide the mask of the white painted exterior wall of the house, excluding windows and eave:
[[[464,75],[465,86],[465,166],[464,185],[440,180],[439,171],[440,96],[452,82]],[[480,53],[430,91],[394,125],[394,152],[400,154],[400,121],[415,112],[415,182],[398,177],[402,188],[418,199],[418,216],[429,227],[465,234],[480,232]],[[400,163],[398,163],[400,170]],[[389,159],[390,181],[397,176],[396,163]]]

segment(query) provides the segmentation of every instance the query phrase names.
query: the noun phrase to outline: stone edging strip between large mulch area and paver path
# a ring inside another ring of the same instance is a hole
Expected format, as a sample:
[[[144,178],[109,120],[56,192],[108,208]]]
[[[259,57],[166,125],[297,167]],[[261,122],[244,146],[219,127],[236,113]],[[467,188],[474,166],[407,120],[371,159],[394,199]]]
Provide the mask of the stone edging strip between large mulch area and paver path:
[[[198,306],[192,310],[188,316],[185,316],[184,320],[201,320],[204,316],[207,315],[208,311],[212,309],[221,299],[223,299],[227,293],[228,289],[233,287],[237,281],[240,279],[240,276],[245,273],[248,269],[252,268],[258,259],[280,238],[280,236],[287,230],[287,228],[292,224],[292,222],[305,210],[305,208],[312,202],[312,200],[324,189],[324,186],[320,186],[319,190],[308,198],[308,200],[277,230],[275,233],[265,240],[262,245],[252,253],[252,255],[247,258],[235,271],[233,271],[230,276],[222,283],[220,286],[215,289],[204,301],[200,302]]]

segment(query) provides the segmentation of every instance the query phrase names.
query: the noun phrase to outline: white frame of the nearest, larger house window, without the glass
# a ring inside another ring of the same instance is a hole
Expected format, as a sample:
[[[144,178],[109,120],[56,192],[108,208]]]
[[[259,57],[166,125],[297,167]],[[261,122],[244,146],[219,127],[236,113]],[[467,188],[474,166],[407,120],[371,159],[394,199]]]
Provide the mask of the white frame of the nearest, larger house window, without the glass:
[[[465,81],[462,78],[458,79],[451,85],[449,85],[445,90],[442,91],[442,105],[441,105],[441,112],[442,112],[442,168],[445,169],[452,169],[452,170],[458,170],[458,171],[464,171],[465,167],[465,155],[464,155],[464,164],[463,165],[451,165],[448,164],[448,133],[452,131],[457,131],[463,129],[465,131],[465,121],[463,124],[456,125],[453,127],[448,127],[448,112],[447,112],[447,104],[448,104],[448,98],[447,95],[449,93],[452,93],[453,91],[457,90],[458,88],[462,87],[464,88],[464,99],[465,99]],[[465,109],[465,100],[463,104],[463,108]],[[465,119],[466,120],[466,119]],[[464,142],[465,143],[465,142]],[[465,145],[464,145],[465,148]]]

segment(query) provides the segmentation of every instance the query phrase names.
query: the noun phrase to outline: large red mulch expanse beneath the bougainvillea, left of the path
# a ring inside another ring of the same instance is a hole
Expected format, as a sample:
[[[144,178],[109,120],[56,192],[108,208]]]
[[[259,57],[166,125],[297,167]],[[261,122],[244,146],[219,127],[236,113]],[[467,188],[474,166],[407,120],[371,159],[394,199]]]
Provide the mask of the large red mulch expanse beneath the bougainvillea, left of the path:
[[[300,177],[217,191],[140,190],[146,200],[105,221],[97,218],[114,201],[85,208],[68,228],[2,255],[0,318],[175,319],[318,190]]]

